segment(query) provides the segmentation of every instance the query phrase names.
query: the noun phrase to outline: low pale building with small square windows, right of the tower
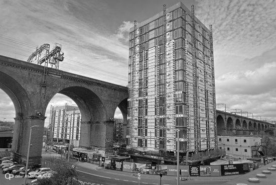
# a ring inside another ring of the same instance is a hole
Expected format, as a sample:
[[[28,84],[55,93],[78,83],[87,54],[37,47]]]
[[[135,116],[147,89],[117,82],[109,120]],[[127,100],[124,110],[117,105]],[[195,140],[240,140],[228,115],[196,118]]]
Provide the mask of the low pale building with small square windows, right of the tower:
[[[261,143],[260,137],[218,136],[218,147],[225,149],[233,160],[249,159],[256,154],[253,146]],[[253,153],[252,153],[253,152]]]

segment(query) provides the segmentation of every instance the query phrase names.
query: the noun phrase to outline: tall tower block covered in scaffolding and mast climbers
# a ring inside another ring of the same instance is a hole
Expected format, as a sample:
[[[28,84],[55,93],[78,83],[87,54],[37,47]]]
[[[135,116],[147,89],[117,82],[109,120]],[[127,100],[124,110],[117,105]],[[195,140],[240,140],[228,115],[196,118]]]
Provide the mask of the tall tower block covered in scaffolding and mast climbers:
[[[212,27],[181,2],[129,34],[127,146],[180,155],[216,148]]]

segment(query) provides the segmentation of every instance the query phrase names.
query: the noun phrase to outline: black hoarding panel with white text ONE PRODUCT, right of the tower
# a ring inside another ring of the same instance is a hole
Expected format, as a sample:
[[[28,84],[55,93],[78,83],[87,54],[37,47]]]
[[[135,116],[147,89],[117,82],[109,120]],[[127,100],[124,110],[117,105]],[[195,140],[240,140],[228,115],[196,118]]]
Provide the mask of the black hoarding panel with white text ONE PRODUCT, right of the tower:
[[[221,175],[244,174],[244,173],[247,173],[248,171],[249,171],[248,163],[221,165]]]

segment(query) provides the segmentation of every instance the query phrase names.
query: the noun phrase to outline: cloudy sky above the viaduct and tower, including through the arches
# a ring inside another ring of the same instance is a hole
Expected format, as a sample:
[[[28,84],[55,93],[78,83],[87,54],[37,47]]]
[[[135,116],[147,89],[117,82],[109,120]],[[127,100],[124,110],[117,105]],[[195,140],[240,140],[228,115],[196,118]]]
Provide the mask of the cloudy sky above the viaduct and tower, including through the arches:
[[[128,38],[176,0],[0,0],[0,55],[27,61],[37,46],[62,45],[60,70],[127,85]],[[182,1],[213,28],[216,103],[276,120],[276,1]],[[0,89],[0,120],[15,108]],[[48,105],[75,104],[57,94]],[[220,109],[221,107],[218,107]],[[116,111],[115,117],[121,117]],[[48,119],[48,118],[47,118]],[[45,123],[48,124],[46,119]]]

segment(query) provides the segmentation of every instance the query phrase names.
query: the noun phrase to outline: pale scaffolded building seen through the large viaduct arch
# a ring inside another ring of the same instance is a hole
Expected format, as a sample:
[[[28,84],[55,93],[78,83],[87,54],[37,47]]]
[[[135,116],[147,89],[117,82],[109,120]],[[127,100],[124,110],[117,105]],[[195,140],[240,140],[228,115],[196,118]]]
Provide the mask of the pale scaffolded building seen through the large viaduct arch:
[[[77,106],[51,107],[49,138],[53,142],[71,143],[78,147],[81,114]]]

